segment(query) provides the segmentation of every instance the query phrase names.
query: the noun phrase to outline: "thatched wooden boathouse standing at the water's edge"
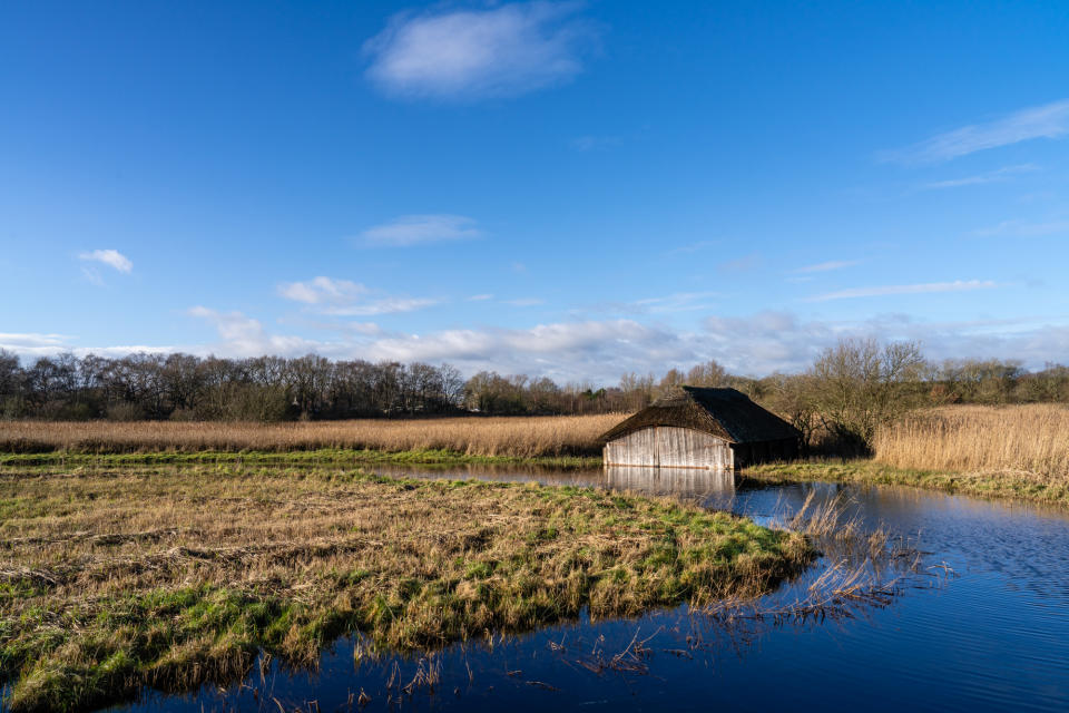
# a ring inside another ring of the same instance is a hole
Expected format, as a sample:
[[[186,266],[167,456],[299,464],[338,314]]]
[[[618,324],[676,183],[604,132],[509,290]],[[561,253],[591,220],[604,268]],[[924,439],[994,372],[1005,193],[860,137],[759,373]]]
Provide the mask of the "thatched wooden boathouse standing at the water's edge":
[[[683,387],[601,441],[606,466],[734,470],[796,458],[802,433],[735,389]]]

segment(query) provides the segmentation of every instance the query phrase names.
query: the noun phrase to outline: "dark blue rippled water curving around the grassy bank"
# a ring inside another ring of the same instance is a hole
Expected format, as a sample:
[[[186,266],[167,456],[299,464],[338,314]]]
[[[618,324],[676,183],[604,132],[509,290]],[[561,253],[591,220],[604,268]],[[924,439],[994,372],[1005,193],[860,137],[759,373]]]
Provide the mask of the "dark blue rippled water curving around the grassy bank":
[[[908,488],[802,484],[761,486],[703,471],[611,472],[464,468],[384,475],[538,480],[553,485],[681,492],[758,520],[811,494],[847,498],[865,527],[919,538],[926,555],[885,607],[845,619],[724,626],[687,607],[640,619],[572,622],[507,641],[454,645],[429,658],[386,657],[354,666],[340,642],[316,673],[268,665],[242,684],[192,695],[149,694],[126,710],[434,711],[710,710],[1062,711],[1069,709],[1069,516]],[[939,576],[945,565],[955,573]],[[821,563],[818,566],[826,566]],[[816,570],[811,573],[815,576]],[[784,596],[784,592],[775,596]],[[639,656],[614,655],[632,642]],[[433,693],[400,690],[421,666]],[[388,685],[394,677],[394,684]],[[312,709],[315,710],[315,709]]]

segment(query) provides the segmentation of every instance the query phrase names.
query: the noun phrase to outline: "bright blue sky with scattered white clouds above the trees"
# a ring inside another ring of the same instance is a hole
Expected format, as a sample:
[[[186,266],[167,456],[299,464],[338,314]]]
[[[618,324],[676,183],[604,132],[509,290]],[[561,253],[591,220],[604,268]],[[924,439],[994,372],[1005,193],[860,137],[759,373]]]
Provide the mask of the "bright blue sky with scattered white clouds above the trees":
[[[1069,361],[1066,37],[1063,3],[4,3],[0,346]]]

